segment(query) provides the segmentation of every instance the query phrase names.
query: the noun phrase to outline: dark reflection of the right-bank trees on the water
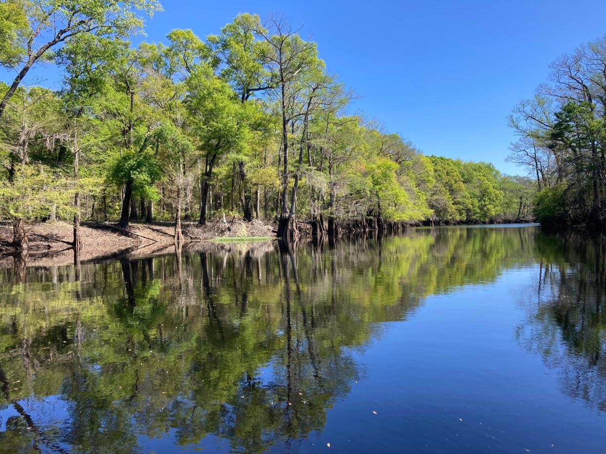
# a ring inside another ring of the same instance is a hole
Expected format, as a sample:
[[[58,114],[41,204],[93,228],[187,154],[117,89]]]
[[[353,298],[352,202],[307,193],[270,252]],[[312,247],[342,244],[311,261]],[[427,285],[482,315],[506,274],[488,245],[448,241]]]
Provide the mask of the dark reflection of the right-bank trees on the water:
[[[606,411],[604,237],[538,237],[540,261],[518,338],[559,372],[562,390]]]

